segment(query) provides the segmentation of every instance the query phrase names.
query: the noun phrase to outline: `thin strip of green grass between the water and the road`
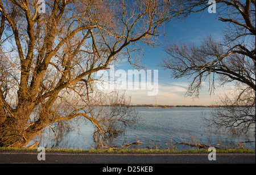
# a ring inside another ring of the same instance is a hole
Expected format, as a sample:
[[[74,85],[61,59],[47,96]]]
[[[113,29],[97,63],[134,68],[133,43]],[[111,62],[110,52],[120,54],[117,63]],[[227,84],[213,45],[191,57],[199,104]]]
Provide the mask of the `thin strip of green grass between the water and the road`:
[[[0,148],[1,151],[32,151],[38,152],[37,148]],[[72,149],[46,149],[46,152],[67,152],[67,153],[209,153],[208,150],[183,150],[183,151],[170,151],[170,150],[72,150]],[[255,153],[255,150],[216,150],[217,153]]]

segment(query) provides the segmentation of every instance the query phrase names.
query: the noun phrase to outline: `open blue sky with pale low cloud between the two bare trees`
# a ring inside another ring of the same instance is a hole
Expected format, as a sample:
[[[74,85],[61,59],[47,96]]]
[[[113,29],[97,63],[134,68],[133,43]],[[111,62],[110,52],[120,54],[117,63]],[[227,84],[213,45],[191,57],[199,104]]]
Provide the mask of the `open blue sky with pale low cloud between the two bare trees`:
[[[179,41],[179,43],[187,42],[200,44],[200,40],[211,35],[220,39],[221,30],[224,23],[217,20],[216,14],[209,14],[205,11],[203,14],[191,14],[183,21],[173,20],[168,23],[164,29],[166,36],[159,39],[162,45],[153,48],[146,46],[141,55],[141,65],[150,70],[158,70],[159,91],[156,96],[158,104],[166,105],[212,105],[221,95],[220,89],[214,91],[214,95],[210,95],[209,86],[205,82],[205,86],[201,89],[199,99],[192,97],[184,97],[187,92],[189,79],[172,79],[170,71],[163,70],[159,67],[160,61],[166,57],[163,51],[166,42]],[[123,63],[118,69],[128,70],[134,69],[127,63]],[[154,96],[147,96],[147,91],[127,90],[126,95],[131,97],[132,104],[154,104]]]

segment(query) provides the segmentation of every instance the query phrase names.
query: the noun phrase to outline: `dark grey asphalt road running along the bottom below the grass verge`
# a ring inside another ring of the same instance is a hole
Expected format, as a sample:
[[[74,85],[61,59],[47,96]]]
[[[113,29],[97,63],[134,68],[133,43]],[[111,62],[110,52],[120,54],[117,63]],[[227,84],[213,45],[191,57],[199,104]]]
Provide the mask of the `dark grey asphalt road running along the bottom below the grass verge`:
[[[0,152],[1,164],[255,164],[253,153],[216,153],[209,161],[207,153],[110,154]],[[1,166],[0,166],[1,167]]]

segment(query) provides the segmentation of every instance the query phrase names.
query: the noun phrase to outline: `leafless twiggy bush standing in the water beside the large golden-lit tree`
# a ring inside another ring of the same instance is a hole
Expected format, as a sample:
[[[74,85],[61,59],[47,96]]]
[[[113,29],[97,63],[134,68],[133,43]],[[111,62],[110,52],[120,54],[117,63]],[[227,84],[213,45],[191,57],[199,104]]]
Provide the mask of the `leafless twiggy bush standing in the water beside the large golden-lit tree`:
[[[138,120],[137,112],[130,106],[130,99],[127,100],[124,93],[113,93],[104,101],[108,105],[97,106],[92,113],[101,117],[104,123],[102,126],[105,128],[100,130],[97,125],[94,126],[93,139],[96,149],[113,144],[119,136],[125,134],[127,127],[134,127]]]

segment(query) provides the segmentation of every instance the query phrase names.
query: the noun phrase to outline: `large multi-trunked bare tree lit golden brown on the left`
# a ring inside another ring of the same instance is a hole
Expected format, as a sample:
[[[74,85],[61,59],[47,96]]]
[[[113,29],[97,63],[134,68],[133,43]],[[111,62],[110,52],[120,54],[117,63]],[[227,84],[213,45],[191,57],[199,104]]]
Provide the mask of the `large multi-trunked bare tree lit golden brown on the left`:
[[[46,127],[81,116],[106,133],[106,121],[85,110],[94,105],[93,75],[121,59],[135,63],[134,48],[156,44],[178,8],[169,0],[45,5],[42,12],[37,0],[0,1],[1,147],[25,147]]]

